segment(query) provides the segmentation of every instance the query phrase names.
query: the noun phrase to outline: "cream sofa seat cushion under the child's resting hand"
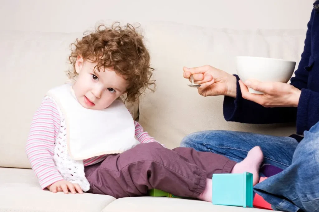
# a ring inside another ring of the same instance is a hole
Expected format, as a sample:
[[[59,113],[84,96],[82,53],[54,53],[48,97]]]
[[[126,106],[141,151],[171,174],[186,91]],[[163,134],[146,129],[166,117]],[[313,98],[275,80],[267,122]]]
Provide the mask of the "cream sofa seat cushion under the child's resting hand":
[[[54,194],[41,190],[31,169],[0,168],[0,211],[100,212],[114,200],[108,195]]]

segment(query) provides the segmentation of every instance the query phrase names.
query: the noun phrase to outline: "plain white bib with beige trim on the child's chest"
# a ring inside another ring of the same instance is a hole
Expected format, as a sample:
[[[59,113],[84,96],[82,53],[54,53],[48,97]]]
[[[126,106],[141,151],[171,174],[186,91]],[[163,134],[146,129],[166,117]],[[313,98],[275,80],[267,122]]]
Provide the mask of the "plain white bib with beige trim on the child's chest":
[[[116,99],[103,110],[87,109],[78,102],[70,84],[55,87],[47,95],[63,112],[67,149],[73,160],[118,154],[139,144],[134,120],[122,100]]]

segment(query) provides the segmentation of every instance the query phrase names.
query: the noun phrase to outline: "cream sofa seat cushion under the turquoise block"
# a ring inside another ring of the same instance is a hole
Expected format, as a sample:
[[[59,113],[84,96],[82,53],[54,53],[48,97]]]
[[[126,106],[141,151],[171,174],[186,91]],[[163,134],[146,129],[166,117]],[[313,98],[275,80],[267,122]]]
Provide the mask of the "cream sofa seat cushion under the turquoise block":
[[[194,212],[194,211],[219,211],[219,212],[247,212],[248,209],[242,207],[213,205],[211,202],[199,200],[186,200],[168,197],[130,197],[117,199],[110,203],[103,212]],[[262,209],[249,209],[250,212],[267,212]]]

